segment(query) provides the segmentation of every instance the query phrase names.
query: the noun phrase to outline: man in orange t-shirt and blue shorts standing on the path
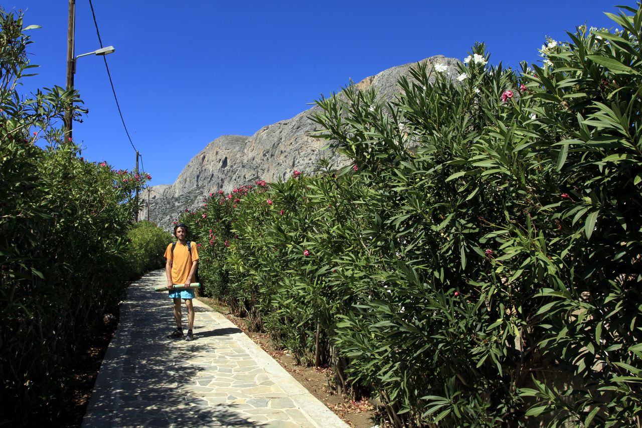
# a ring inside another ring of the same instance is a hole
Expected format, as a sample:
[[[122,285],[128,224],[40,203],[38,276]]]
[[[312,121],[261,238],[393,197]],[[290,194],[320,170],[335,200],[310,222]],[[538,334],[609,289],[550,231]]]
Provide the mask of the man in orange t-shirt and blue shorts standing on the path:
[[[194,298],[193,289],[174,289],[174,284],[185,284],[186,287],[193,282],[194,272],[198,264],[198,251],[196,243],[187,240],[187,226],[180,223],[174,226],[174,236],[177,242],[172,242],[167,246],[164,257],[165,273],[167,274],[167,288],[169,298],[174,299],[174,317],[176,319],[176,330],[168,335],[171,339],[180,339],[183,337],[181,303],[182,299],[187,307],[187,324],[188,330],[185,337],[186,341],[194,339],[192,328],[194,326]]]

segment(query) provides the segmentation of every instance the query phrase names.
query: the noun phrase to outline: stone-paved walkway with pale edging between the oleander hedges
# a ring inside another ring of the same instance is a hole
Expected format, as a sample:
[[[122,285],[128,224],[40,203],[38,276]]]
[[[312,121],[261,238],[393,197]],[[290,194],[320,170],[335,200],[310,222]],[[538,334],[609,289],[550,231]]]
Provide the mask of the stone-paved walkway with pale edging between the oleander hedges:
[[[195,300],[194,341],[175,328],[164,271],[133,283],[83,427],[347,427],[227,318]],[[183,325],[187,332],[187,310]]]

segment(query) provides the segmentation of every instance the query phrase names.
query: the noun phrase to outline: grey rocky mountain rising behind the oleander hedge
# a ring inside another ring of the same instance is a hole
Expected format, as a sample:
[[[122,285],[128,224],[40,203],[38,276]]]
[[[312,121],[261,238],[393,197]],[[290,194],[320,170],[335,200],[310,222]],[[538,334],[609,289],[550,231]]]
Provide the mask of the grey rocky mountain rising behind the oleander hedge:
[[[454,76],[459,61],[436,55],[421,62],[446,64],[447,73]],[[413,64],[416,63],[386,69],[357,85],[361,89],[374,87],[379,96],[394,98],[399,93],[397,81],[401,76],[410,78]],[[230,192],[257,179],[286,179],[295,168],[312,172],[322,157],[330,159],[336,168],[347,165],[347,159],[327,148],[326,141],[310,136],[318,125],[309,116],[317,109],[315,106],[289,120],[266,125],[253,136],[225,135],[214,139],[187,163],[174,184],[152,186],[141,194],[145,208],[140,218],[148,217],[149,205],[150,220],[170,229],[171,222],[184,210],[200,206],[210,192]]]

